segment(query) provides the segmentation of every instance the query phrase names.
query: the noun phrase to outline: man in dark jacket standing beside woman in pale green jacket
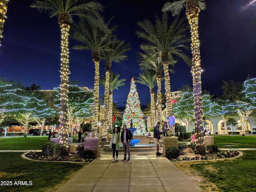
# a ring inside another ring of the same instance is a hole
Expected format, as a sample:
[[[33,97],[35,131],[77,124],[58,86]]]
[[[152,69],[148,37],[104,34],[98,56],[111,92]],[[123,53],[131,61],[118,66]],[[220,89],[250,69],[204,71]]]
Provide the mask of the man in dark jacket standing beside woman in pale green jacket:
[[[132,139],[132,132],[127,129],[127,126],[123,126],[123,131],[121,133],[121,141],[124,146],[124,159],[123,161],[126,161],[126,152],[128,153],[128,159],[127,161],[130,161],[130,140]]]

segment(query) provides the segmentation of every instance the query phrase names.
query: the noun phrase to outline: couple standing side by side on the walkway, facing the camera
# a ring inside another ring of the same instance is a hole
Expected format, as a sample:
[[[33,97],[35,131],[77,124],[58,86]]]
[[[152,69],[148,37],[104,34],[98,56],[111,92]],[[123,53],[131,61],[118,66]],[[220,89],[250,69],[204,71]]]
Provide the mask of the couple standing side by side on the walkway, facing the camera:
[[[123,146],[124,146],[124,159],[122,161],[127,161],[127,162],[130,161],[130,140],[131,139],[132,139],[132,132],[127,129],[126,125],[124,125],[121,133],[121,142],[123,143]],[[112,151],[113,151],[112,162],[118,161],[118,150],[120,150],[119,142],[120,142],[120,131],[118,131],[118,128],[115,127],[109,143],[109,147],[112,148]],[[127,160],[126,160],[126,152],[128,153]],[[115,153],[116,153],[116,158],[115,158]]]

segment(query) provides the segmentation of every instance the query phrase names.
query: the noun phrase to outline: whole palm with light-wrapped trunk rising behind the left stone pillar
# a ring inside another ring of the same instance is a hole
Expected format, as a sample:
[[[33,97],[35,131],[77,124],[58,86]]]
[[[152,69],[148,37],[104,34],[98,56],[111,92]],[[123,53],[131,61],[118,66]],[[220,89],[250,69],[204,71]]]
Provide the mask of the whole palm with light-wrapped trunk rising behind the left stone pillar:
[[[111,31],[100,30],[100,28],[92,25],[89,22],[80,22],[74,26],[73,38],[81,42],[82,45],[75,45],[73,49],[76,50],[91,50],[92,61],[95,66],[94,88],[93,88],[93,114],[92,114],[92,130],[96,133],[98,122],[98,105],[99,105],[99,80],[100,80],[100,54],[103,50],[108,49],[108,44],[111,39]]]

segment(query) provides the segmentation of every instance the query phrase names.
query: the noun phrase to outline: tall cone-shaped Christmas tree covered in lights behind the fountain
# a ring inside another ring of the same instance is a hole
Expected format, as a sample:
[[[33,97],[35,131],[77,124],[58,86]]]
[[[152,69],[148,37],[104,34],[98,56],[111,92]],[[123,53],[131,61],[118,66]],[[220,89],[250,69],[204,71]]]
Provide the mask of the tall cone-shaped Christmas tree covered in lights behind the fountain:
[[[146,125],[143,120],[143,114],[140,107],[140,98],[136,90],[134,77],[131,79],[130,84],[130,92],[127,96],[126,107],[123,115],[123,124],[126,124],[129,128],[132,119],[133,128],[137,128],[134,135],[145,135]]]

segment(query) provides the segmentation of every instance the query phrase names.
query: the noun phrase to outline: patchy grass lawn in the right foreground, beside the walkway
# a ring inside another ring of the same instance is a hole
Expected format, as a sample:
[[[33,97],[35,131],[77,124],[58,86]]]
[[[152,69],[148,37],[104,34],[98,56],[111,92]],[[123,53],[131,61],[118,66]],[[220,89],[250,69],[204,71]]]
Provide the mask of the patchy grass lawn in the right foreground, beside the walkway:
[[[256,191],[256,151],[242,151],[240,158],[230,160],[176,162],[204,192]]]

